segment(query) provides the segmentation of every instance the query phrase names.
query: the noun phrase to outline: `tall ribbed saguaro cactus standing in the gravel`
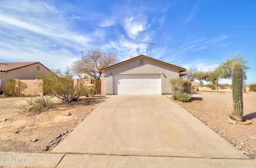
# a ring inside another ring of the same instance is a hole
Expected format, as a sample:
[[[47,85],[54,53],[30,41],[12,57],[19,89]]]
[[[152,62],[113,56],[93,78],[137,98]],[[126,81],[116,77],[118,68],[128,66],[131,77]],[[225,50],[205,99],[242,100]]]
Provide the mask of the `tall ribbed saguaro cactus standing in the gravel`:
[[[232,66],[232,96],[236,121],[243,121],[243,67],[240,62]]]

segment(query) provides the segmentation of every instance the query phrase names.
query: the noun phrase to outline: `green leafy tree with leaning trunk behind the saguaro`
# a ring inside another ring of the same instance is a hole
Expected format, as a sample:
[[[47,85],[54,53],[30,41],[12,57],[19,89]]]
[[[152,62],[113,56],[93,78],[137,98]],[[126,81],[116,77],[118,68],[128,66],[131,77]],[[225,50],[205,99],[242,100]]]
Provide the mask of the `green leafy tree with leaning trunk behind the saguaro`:
[[[209,71],[202,73],[198,80],[205,80],[216,87],[216,92],[218,92],[218,82],[220,78],[227,79],[231,78],[232,65],[234,62],[240,62],[243,66],[243,76],[246,74],[246,70],[250,69],[248,66],[249,60],[244,59],[245,55],[240,52],[236,54],[230,53],[229,58],[225,62],[221,62],[216,68],[209,69]]]

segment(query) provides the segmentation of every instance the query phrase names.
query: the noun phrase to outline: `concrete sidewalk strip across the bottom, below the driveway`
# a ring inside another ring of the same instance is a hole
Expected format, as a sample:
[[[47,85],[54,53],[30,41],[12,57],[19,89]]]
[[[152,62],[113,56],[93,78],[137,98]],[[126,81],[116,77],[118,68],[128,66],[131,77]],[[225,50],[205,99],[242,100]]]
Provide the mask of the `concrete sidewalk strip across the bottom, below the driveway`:
[[[97,154],[31,154],[0,152],[0,167],[45,168],[255,168],[256,159],[211,159],[164,156],[118,156]],[[6,161],[10,162],[6,162]]]

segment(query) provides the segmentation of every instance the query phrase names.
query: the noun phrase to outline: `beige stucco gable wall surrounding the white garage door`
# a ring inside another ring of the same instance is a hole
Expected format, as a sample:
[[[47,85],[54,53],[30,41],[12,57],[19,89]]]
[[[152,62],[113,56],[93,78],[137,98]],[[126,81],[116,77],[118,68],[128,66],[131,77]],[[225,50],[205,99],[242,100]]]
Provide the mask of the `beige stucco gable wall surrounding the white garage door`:
[[[143,59],[144,65],[140,65],[140,59]],[[179,77],[179,69],[147,58],[138,58],[114,66],[106,70],[106,94],[114,93],[113,79],[115,74],[161,74],[162,94],[171,94],[169,80],[170,78]]]

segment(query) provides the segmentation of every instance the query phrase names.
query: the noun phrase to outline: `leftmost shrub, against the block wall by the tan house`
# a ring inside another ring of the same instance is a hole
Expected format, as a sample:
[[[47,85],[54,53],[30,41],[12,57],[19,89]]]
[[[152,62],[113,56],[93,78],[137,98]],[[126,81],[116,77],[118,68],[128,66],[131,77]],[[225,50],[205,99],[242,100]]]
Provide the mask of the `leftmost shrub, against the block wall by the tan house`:
[[[12,79],[10,82],[6,83],[6,90],[4,92],[5,96],[20,96],[20,93],[24,91],[28,85],[18,79]]]

